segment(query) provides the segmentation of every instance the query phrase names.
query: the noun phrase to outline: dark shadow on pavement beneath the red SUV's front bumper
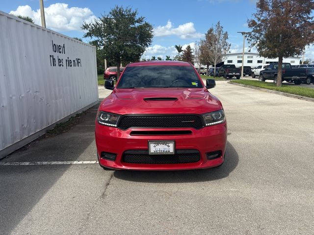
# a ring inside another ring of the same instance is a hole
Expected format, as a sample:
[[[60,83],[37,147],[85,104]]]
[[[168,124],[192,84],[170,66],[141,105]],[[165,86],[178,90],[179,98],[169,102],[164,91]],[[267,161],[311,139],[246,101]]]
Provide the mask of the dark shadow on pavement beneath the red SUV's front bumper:
[[[228,177],[239,162],[238,154],[232,144],[227,142],[225,162],[219,167],[202,170],[179,171],[133,171],[116,170],[114,177],[126,181],[146,183],[186,183],[219,180]]]

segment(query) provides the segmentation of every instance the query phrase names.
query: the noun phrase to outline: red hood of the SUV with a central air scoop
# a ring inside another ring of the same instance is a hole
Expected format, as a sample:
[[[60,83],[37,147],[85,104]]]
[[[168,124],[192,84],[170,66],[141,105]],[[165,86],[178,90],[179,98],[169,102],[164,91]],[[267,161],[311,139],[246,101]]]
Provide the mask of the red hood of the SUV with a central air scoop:
[[[99,110],[126,114],[204,114],[222,109],[218,98],[205,88],[116,89]]]

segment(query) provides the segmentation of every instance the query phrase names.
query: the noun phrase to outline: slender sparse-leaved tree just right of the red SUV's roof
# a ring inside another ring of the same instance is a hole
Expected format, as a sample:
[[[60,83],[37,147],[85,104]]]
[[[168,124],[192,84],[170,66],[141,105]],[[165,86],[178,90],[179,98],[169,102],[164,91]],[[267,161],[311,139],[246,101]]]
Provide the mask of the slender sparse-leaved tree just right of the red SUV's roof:
[[[228,32],[223,31],[223,26],[218,21],[215,26],[209,28],[205,39],[201,40],[201,53],[203,60],[213,63],[214,76],[216,75],[216,64],[221,62],[226,53],[229,52],[231,44],[228,43]]]

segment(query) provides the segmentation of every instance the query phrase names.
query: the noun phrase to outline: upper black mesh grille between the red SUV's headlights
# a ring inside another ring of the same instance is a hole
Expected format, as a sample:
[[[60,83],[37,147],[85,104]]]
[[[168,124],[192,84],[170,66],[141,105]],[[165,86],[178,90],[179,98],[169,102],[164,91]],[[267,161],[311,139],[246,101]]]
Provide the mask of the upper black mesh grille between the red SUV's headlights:
[[[200,129],[203,127],[203,123],[198,115],[127,115],[122,116],[120,122],[118,123],[118,127],[123,130],[131,127],[193,127]]]

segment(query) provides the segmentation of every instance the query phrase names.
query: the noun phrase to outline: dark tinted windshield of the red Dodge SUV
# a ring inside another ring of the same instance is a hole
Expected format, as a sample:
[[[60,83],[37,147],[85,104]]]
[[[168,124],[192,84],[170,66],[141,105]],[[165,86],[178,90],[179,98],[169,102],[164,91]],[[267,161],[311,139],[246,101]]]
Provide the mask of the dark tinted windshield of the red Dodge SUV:
[[[202,88],[192,66],[127,67],[117,88],[184,87]]]

